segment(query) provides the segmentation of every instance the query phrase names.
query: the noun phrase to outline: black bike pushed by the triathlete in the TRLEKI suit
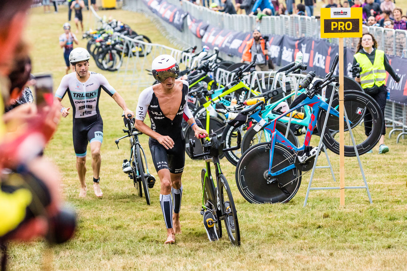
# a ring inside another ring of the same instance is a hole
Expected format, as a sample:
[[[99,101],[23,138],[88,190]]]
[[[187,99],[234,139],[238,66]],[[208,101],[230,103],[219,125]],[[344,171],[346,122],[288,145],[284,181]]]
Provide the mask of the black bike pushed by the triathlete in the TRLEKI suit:
[[[124,115],[122,115],[124,117]],[[133,180],[134,187],[138,191],[138,195],[140,197],[143,196],[144,190],[144,197],[146,198],[146,202],[150,205],[150,193],[149,188],[153,188],[155,184],[155,178],[149,172],[149,167],[147,165],[147,158],[146,154],[144,153],[143,147],[138,141],[138,136],[142,134],[142,132],[138,131],[134,127],[134,118],[130,120],[131,115],[127,115],[127,118],[124,118],[125,126],[127,130],[123,129],[123,132],[127,133],[127,135],[116,139],[114,143],[116,143],[117,148],[119,148],[119,141],[129,137],[130,138],[130,158],[129,160],[125,160],[124,164],[129,163],[128,166],[123,165],[123,171],[128,174],[129,178]],[[144,156],[145,161],[145,170],[144,170],[144,163],[143,157],[141,156],[141,152]]]

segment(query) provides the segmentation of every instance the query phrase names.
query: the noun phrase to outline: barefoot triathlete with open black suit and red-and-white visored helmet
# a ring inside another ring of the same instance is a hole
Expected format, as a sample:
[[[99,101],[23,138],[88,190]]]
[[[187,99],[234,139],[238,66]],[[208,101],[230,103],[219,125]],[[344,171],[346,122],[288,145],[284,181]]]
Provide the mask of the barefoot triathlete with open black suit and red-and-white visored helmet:
[[[195,137],[199,134],[208,136],[208,132],[197,126],[188,108],[188,82],[175,80],[179,74],[177,61],[163,54],[153,60],[151,69],[154,79],[160,84],[148,87],[140,94],[135,126],[150,137],[151,156],[161,184],[160,205],[167,228],[165,243],[171,244],[175,243],[175,234],[181,233],[179,210],[182,198],[181,176],[185,164],[185,139],[181,126],[183,115],[193,128]],[[143,122],[147,111],[151,128]],[[174,202],[171,201],[170,193]]]

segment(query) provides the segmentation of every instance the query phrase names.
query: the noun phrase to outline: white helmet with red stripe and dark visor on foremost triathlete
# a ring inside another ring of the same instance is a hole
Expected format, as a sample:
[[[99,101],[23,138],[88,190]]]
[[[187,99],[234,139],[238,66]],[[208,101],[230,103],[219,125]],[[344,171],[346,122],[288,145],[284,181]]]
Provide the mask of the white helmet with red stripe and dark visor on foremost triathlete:
[[[179,67],[177,61],[169,54],[162,54],[153,60],[151,72],[154,79],[162,82],[168,77],[177,78],[179,75]]]

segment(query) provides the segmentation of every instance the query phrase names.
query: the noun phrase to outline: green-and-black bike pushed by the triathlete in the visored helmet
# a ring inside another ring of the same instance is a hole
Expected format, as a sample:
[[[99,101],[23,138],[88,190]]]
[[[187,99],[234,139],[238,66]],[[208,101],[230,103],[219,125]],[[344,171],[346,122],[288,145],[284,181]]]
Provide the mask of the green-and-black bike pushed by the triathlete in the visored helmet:
[[[204,226],[209,240],[216,241],[222,237],[221,220],[223,220],[230,242],[232,245],[239,246],[240,230],[236,208],[228,181],[223,175],[219,163],[219,155],[230,149],[224,148],[225,143],[219,142],[213,131],[209,137],[211,140],[208,143],[204,143],[203,138],[201,138],[203,153],[198,155],[194,155],[195,140],[189,140],[190,157],[205,158],[206,168],[201,171],[203,190],[201,215],[204,216]],[[240,131],[238,131],[238,137],[241,138]],[[213,162],[215,166],[216,187],[210,171],[210,162]]]

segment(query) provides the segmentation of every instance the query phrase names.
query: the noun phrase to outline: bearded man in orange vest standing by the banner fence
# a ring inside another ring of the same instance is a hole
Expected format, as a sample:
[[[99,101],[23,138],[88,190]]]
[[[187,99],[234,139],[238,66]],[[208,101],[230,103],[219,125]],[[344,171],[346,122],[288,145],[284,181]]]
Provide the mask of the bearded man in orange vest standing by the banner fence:
[[[252,62],[253,56],[256,58],[256,71],[269,71],[268,59],[269,59],[269,45],[261,36],[259,30],[253,30],[253,38],[249,39],[246,44],[246,48],[243,51],[241,62]]]

